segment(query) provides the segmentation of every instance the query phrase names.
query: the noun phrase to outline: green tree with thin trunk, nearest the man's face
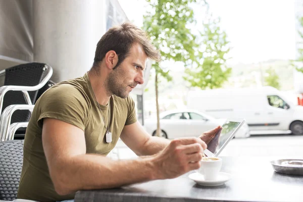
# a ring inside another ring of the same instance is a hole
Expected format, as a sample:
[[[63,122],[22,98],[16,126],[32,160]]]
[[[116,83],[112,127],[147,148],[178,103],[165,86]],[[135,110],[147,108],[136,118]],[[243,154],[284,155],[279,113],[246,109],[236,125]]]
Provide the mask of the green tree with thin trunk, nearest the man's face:
[[[160,50],[162,61],[184,62],[191,64],[194,60],[195,36],[191,33],[188,25],[194,22],[193,11],[189,4],[196,0],[146,0],[149,4],[149,12],[144,15],[143,29],[150,39]],[[171,81],[168,67],[163,63],[154,63],[157,108],[157,132],[160,136],[160,118],[158,103],[159,78],[163,77]]]

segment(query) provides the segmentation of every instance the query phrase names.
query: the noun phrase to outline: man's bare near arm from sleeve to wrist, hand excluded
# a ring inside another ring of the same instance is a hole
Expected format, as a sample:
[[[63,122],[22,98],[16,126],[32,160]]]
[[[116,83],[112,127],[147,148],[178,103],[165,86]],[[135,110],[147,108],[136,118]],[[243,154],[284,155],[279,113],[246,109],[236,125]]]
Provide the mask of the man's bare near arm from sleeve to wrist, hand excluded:
[[[42,142],[55,189],[62,195],[159,178],[153,157],[113,161],[102,155],[86,154],[84,132],[63,121],[44,119]]]

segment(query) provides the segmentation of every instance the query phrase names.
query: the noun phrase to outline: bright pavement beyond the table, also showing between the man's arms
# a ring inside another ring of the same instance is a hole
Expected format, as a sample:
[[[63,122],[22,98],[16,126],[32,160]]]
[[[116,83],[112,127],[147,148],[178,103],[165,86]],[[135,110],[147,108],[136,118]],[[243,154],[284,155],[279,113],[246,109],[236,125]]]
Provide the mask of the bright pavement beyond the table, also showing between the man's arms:
[[[113,159],[133,159],[136,155],[119,141],[112,154]],[[118,153],[117,153],[118,150]],[[258,156],[303,159],[303,135],[252,135],[248,138],[232,139],[220,156]]]

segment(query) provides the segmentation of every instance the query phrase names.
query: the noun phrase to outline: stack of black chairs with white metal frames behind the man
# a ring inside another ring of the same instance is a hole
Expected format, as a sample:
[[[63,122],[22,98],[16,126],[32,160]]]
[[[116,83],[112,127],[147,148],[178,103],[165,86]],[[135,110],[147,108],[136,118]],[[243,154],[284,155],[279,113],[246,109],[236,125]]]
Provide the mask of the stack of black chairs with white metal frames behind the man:
[[[44,63],[27,63],[5,69],[4,86],[0,87],[0,141],[14,138],[26,128],[37,97],[54,85],[49,81],[52,67]],[[16,112],[15,112],[16,111]],[[25,134],[25,130],[21,133]]]

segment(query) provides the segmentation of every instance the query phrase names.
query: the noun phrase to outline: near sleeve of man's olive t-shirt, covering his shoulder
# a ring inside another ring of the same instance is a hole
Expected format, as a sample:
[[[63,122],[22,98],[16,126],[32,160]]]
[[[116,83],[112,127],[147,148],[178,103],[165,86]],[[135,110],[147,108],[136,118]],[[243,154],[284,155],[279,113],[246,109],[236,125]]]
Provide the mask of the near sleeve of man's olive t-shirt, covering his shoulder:
[[[40,127],[43,118],[53,118],[85,130],[87,103],[81,92],[70,84],[48,89],[39,99],[39,109],[37,123]]]

